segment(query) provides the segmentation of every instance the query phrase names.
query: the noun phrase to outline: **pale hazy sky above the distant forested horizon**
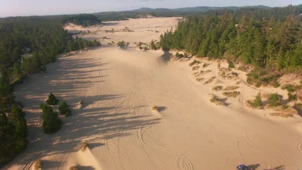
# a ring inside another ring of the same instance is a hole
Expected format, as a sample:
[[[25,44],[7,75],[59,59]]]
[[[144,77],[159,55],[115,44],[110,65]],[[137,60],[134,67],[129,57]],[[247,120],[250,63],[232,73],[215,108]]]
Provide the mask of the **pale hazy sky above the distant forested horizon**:
[[[287,6],[302,0],[0,0],[0,17],[121,11],[140,7]]]

